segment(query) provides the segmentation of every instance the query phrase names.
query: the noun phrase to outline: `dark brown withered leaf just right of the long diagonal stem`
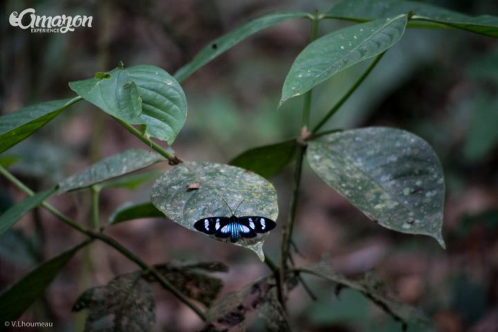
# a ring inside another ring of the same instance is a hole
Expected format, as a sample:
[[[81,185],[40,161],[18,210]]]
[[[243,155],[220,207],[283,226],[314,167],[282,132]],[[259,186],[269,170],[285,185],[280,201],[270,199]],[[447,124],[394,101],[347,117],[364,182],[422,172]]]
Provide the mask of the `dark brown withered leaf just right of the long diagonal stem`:
[[[223,282],[207,273],[227,272],[228,266],[219,262],[202,262],[197,264],[160,264],[154,266],[181,293],[196,301],[210,306],[218,296]],[[146,275],[149,282],[155,282],[152,275]]]

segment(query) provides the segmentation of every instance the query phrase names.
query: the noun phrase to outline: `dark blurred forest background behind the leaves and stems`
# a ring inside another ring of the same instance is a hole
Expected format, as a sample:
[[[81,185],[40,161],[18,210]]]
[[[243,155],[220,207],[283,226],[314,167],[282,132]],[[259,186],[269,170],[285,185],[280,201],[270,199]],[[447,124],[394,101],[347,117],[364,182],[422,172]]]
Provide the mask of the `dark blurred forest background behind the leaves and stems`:
[[[427,1],[430,2],[430,1]],[[470,15],[498,15],[495,0],[432,1]],[[0,112],[73,95],[67,82],[97,71],[151,64],[169,73],[205,44],[252,17],[273,10],[324,12],[333,1],[2,1]],[[73,33],[29,33],[8,25],[10,12],[35,8],[39,15],[92,15],[92,28]],[[250,147],[295,137],[302,99],[277,110],[282,83],[293,59],[306,46],[310,23],[286,21],[250,37],[190,77],[183,88],[188,116],[174,144],[184,160],[227,163]],[[320,33],[349,23],[322,21]],[[320,118],[362,73],[365,64],[317,87],[312,119]],[[426,311],[439,331],[498,331],[498,44],[496,39],[459,30],[408,30],[389,50],[365,84],[344,105],[330,128],[399,127],[421,136],[436,150],[445,170],[443,235],[447,250],[429,237],[380,228],[305,169],[295,242],[299,262],[326,252],[336,270],[349,276],[375,270],[387,291]],[[12,167],[35,190],[53,185],[104,156],[144,148],[102,111],[78,103],[31,138],[6,152]],[[279,193],[279,220],[285,220],[292,172],[273,179]],[[149,187],[108,190],[101,196],[101,219],[122,203],[147,201]],[[0,178],[0,210],[24,198]],[[91,219],[87,194],[50,200],[80,223]],[[149,264],[219,260],[223,293],[267,273],[248,250],[213,241],[167,219],[144,219],[113,226],[116,239]],[[37,262],[80,241],[80,234],[42,209],[24,217],[0,237],[0,288]],[[279,232],[266,241],[277,257]],[[55,279],[42,301],[23,318],[52,321],[50,331],[81,331],[84,313],[71,313],[84,289],[106,284],[135,266],[102,243],[80,252]],[[338,299],[330,285],[306,278],[319,295],[313,302],[302,288],[289,311],[297,331],[369,331],[372,321],[396,324],[362,296],[345,291]],[[189,308],[155,289],[155,331],[193,331],[201,326]],[[377,324],[377,323],[376,323]],[[252,328],[257,331],[257,325]],[[252,330],[250,330],[252,331]]]

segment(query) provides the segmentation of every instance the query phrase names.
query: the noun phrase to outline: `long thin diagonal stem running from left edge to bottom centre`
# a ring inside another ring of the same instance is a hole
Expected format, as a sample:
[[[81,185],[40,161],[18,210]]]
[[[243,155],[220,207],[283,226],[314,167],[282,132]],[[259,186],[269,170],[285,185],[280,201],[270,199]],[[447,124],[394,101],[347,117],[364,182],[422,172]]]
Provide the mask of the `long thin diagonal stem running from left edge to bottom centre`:
[[[14,184],[16,187],[18,187],[26,194],[28,194],[29,196],[33,196],[34,194],[33,190],[30,190],[30,188],[26,187],[24,183],[19,181],[18,178],[10,174],[10,172],[8,172],[8,170],[2,166],[0,166],[0,174],[5,176],[12,184]],[[118,252],[120,252],[124,257],[127,257],[127,259],[133,261],[133,263],[140,266],[140,268],[146,270],[147,272],[150,272],[152,275],[154,275],[154,277],[161,284],[161,286],[163,286],[163,288],[172,292],[181,302],[189,306],[197,315],[199,315],[199,317],[201,317],[203,321],[206,320],[205,314],[201,311],[201,309],[197,308],[197,306],[195,306],[192,302],[190,302],[190,300],[187,299],[187,297],[185,297],[185,295],[183,295],[181,291],[178,291],[178,288],[176,288],[167,279],[165,279],[163,275],[158,273],[156,269],[154,269],[152,266],[149,266],[147,263],[145,263],[145,261],[142,261],[140,257],[133,254],[133,252],[129,251],[126,247],[122,246],[121,243],[119,243],[118,241],[116,241],[111,237],[108,237],[105,234],[102,234],[101,232],[96,232],[94,230],[89,230],[87,228],[84,228],[82,225],[76,223],[65,214],[62,214],[62,212],[59,212],[59,210],[54,208],[49,203],[46,203],[45,201],[42,203],[42,206],[46,208],[48,211],[50,211],[52,214],[57,216],[57,218],[64,221],[64,223],[74,228],[75,230],[86,234],[87,236],[91,237],[91,239],[99,239],[100,241],[107,243],[112,248],[118,250]]]

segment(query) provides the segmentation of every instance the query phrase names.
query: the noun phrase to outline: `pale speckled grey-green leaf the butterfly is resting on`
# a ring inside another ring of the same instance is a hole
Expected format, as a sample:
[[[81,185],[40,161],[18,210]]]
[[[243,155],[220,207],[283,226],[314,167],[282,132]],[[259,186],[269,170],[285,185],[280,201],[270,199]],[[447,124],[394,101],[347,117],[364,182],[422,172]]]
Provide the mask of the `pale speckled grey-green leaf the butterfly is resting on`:
[[[199,188],[187,187],[193,183],[198,183]],[[216,163],[176,165],[154,183],[151,201],[169,219],[194,231],[196,221],[210,216],[230,216],[230,209],[234,210],[239,204],[237,216],[265,216],[276,220],[278,215],[277,192],[271,183],[245,169]],[[267,236],[265,233],[234,244],[253,250],[263,261],[263,242]]]

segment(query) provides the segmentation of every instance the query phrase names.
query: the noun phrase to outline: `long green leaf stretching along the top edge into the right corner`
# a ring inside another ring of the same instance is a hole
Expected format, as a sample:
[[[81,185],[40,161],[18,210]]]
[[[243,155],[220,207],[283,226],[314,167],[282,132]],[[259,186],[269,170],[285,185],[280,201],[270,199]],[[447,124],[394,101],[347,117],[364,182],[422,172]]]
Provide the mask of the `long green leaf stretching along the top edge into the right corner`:
[[[472,17],[427,3],[403,0],[342,0],[326,12],[326,17],[349,19],[351,21],[370,21],[394,17],[412,12],[410,21],[430,21],[444,24],[472,33],[498,37],[498,17],[481,15]]]

